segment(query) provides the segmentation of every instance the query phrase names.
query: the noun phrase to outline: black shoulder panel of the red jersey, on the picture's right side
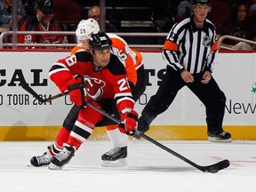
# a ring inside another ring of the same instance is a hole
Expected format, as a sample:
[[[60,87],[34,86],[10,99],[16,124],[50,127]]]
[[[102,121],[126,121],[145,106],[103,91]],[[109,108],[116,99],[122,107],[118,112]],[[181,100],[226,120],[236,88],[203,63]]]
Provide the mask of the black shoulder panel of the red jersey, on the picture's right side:
[[[114,76],[126,74],[124,64],[112,53],[107,68]]]

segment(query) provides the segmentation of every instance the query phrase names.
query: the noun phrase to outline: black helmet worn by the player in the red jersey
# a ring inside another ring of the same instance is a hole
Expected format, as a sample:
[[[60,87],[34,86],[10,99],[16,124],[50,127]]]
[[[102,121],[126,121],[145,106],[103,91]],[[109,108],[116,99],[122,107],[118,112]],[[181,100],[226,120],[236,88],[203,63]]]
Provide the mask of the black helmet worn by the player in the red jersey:
[[[98,34],[92,34],[89,46],[92,50],[109,49],[112,47],[112,41],[106,33],[100,32]]]

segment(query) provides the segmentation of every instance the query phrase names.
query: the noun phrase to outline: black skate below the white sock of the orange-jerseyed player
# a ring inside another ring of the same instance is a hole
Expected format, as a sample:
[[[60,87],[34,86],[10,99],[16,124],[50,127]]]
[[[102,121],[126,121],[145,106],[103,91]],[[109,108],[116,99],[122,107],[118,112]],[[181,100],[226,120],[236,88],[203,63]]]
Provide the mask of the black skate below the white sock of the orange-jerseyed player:
[[[127,147],[112,148],[101,156],[102,166],[115,167],[124,166],[126,164],[125,158],[127,157]]]

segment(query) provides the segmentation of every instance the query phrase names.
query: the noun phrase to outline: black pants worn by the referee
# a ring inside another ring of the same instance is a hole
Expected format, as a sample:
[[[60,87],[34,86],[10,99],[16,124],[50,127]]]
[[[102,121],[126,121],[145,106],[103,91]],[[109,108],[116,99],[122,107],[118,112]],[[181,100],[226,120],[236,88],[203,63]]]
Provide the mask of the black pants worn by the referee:
[[[226,96],[220,90],[219,85],[212,77],[208,84],[202,84],[204,72],[194,74],[195,81],[186,83],[180,76],[180,72],[167,67],[163,82],[157,92],[153,95],[141,113],[141,119],[151,123],[156,116],[163,113],[172,104],[177,93],[183,86],[194,92],[199,100],[204,103],[206,108],[206,124],[208,132],[222,131],[222,122],[225,113]],[[195,109],[196,110],[196,109]]]

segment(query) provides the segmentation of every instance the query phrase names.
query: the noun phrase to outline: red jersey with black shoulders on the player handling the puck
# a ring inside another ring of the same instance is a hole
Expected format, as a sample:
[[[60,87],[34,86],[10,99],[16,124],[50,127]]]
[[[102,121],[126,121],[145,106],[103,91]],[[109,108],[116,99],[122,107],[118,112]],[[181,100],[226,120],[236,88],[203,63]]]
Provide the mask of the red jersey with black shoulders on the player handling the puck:
[[[87,100],[116,100],[119,113],[123,108],[134,107],[124,65],[116,55],[111,54],[107,67],[99,68],[93,65],[90,52],[76,52],[58,60],[49,73],[61,92],[68,90],[68,81],[76,75],[84,76]]]

